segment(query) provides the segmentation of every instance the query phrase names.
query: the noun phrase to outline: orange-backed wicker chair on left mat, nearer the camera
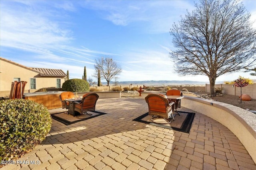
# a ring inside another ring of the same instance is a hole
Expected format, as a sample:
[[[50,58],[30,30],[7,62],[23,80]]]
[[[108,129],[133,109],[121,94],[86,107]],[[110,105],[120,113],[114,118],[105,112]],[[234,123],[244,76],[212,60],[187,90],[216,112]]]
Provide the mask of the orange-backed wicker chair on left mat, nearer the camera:
[[[78,111],[81,115],[88,114],[92,116],[92,114],[87,113],[87,111],[95,111],[96,102],[99,96],[96,93],[87,93],[84,94],[81,102],[73,102],[74,112]]]

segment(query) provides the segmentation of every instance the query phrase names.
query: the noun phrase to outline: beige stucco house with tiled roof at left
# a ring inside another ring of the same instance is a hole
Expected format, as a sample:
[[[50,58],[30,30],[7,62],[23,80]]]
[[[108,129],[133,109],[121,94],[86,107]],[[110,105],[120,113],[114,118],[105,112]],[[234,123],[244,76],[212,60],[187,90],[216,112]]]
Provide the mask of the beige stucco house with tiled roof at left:
[[[26,81],[25,93],[61,88],[66,81],[61,69],[31,68],[0,57],[0,97],[10,96],[12,82]]]

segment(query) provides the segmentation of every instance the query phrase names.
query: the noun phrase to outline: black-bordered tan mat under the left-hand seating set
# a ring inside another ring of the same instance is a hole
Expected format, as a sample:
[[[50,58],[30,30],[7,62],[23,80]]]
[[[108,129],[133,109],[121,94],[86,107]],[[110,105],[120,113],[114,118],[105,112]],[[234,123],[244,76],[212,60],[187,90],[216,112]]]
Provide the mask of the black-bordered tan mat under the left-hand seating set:
[[[54,113],[54,114],[51,114],[51,116],[53,119],[61,123],[64,123],[65,125],[71,125],[76,122],[85,121],[87,119],[92,119],[94,117],[107,114],[100,111],[88,111],[88,113],[92,114],[92,116],[83,114],[83,115],[78,115],[74,117],[73,115],[68,115],[66,112]]]

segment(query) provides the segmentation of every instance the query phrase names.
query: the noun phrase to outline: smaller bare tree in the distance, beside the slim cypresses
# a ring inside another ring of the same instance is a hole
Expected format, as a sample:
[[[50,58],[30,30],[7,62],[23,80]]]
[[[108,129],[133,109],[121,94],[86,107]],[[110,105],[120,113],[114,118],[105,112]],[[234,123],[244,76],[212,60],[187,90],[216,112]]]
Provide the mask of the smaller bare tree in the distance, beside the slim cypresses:
[[[112,58],[100,58],[98,60],[95,60],[95,71],[97,72],[100,70],[100,75],[106,79],[108,86],[109,82],[114,78],[116,75],[120,74],[122,72],[122,69],[116,61],[114,61]]]

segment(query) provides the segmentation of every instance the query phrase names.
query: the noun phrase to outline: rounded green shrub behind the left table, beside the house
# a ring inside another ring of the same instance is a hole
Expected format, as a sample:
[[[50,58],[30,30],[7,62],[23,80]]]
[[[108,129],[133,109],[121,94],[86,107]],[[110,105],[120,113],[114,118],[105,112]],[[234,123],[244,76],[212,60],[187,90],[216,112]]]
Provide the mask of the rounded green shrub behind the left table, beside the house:
[[[74,78],[66,80],[66,82],[62,84],[62,90],[68,92],[89,92],[90,86],[86,80]]]

